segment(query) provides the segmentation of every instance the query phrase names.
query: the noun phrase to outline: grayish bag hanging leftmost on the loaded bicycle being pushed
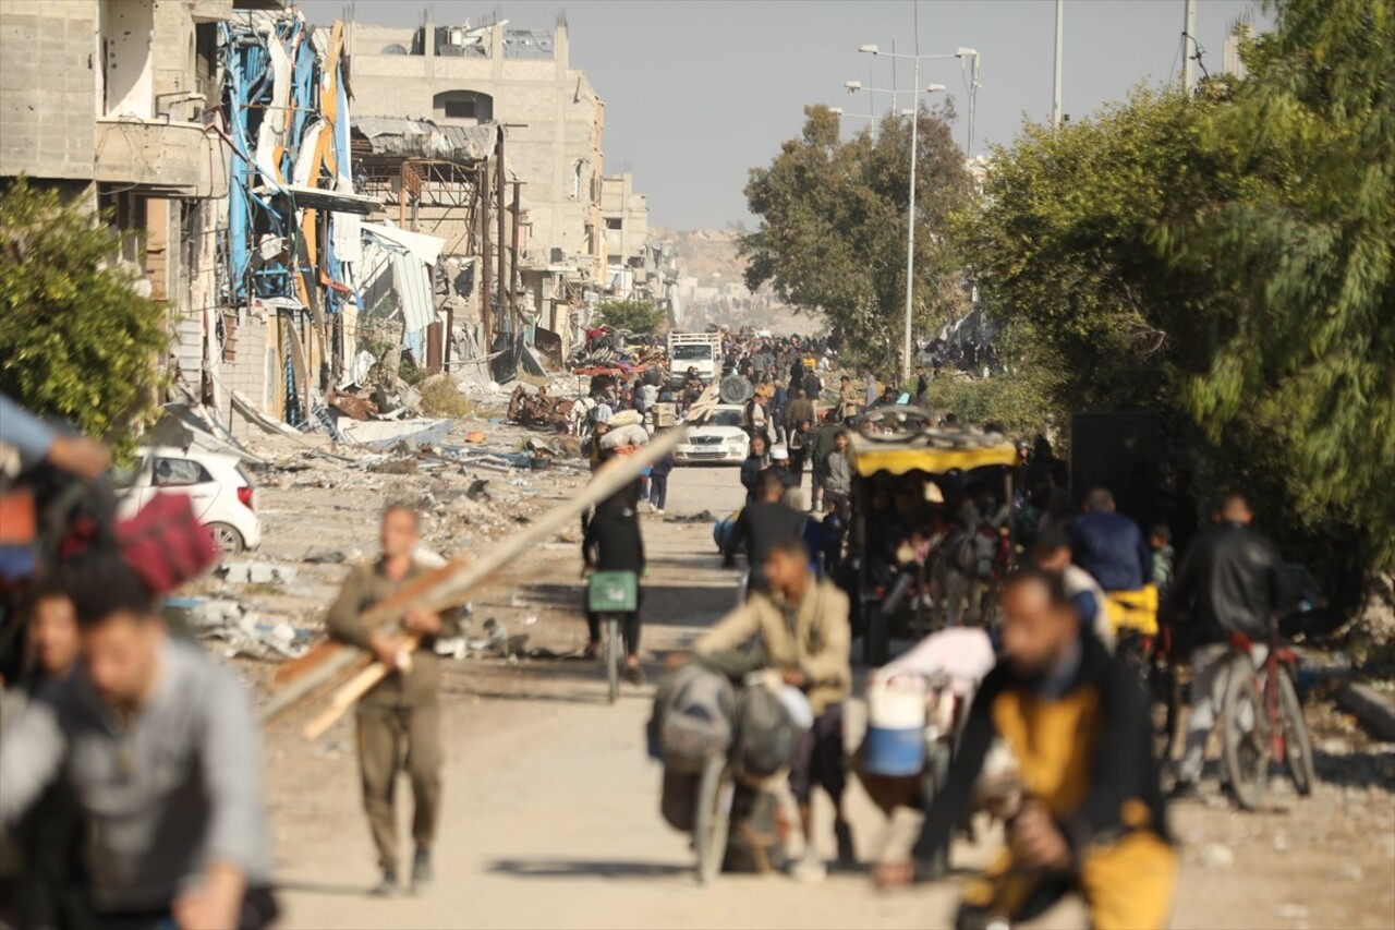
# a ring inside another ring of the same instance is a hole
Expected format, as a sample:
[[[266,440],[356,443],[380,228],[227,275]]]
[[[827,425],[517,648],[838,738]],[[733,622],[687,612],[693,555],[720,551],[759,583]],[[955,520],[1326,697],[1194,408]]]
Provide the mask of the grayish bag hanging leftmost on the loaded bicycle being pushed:
[[[650,755],[675,772],[698,774],[731,747],[735,694],[731,681],[696,662],[663,683],[649,722]]]

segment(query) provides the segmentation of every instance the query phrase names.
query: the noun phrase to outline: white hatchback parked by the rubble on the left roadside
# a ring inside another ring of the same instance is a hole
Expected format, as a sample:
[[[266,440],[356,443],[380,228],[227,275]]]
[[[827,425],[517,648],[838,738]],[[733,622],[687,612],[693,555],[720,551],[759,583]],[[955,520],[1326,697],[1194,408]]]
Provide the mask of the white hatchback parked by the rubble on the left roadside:
[[[124,489],[120,517],[134,517],[156,492],[173,492],[193,501],[198,522],[226,554],[261,545],[257,483],[236,455],[166,445],[141,448],[138,455],[134,469],[113,475],[117,487]]]

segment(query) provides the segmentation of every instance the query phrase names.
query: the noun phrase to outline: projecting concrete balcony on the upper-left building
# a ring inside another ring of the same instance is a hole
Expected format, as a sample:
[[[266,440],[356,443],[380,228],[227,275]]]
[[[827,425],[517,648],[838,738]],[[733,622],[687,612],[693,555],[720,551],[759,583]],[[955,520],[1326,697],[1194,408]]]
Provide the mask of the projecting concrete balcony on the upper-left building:
[[[100,119],[95,124],[93,180],[167,197],[227,195],[232,151],[202,123]]]

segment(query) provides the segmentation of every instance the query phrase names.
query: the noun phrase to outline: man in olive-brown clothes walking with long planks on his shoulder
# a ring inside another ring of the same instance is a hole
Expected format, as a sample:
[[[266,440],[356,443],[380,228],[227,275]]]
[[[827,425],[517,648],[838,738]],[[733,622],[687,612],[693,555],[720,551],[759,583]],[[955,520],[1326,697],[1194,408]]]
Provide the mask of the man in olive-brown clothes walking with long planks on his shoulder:
[[[374,894],[392,896],[398,884],[398,822],[393,786],[406,769],[416,804],[412,885],[431,884],[431,845],[441,810],[441,660],[437,637],[459,635],[456,613],[407,607],[398,630],[374,630],[360,616],[427,570],[413,553],[421,540],[416,511],[392,504],[382,512],[382,556],[349,573],[325,623],[329,635],[371,652],[392,669],[359,701],[359,765],[363,804],[378,848],[382,881]]]

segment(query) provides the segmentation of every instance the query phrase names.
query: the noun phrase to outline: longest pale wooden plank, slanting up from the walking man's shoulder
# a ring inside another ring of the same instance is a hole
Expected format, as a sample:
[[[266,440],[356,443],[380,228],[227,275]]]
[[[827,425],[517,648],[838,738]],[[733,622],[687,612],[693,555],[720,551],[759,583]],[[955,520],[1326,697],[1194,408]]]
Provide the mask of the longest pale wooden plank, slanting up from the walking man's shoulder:
[[[639,478],[642,469],[671,452],[686,434],[688,430],[684,427],[670,430],[654,437],[653,441],[640,447],[633,455],[612,458],[596,471],[596,475],[591,476],[591,482],[586,487],[562,505],[550,510],[526,529],[491,545],[487,552],[480,553],[473,561],[467,557],[455,559],[431,574],[417,578],[392,598],[370,607],[364,613],[364,621],[378,628],[388,628],[402,619],[402,614],[406,613],[410,605],[418,605],[427,610],[442,610],[459,605],[472,588],[487,581],[495,571],[513,561],[513,559],[530,547],[550,540],[557,533],[575,526],[576,519],[589,507],[598,504],[633,482]],[[329,679],[363,660],[364,654],[360,649],[349,647],[325,656],[322,662],[299,679],[287,683],[272,698],[262,711],[262,721],[269,722],[279,714],[297,705]]]

